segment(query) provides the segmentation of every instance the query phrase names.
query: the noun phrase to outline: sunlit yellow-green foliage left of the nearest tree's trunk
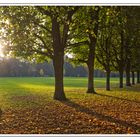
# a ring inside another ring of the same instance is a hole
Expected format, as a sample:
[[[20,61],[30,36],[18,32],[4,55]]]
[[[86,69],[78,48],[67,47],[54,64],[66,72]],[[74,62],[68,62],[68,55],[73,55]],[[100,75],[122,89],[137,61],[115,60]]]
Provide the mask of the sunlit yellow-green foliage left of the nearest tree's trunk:
[[[3,38],[7,44],[5,45],[5,53],[9,53],[25,59],[38,58],[42,59],[42,54],[48,53],[51,49],[51,41],[48,38],[50,34],[46,34],[46,30],[41,26],[45,26],[46,19],[35,7],[1,7],[2,17],[8,21],[8,25],[4,26]],[[47,25],[49,28],[50,24]],[[45,40],[44,40],[45,38]],[[43,58],[45,59],[46,56]]]

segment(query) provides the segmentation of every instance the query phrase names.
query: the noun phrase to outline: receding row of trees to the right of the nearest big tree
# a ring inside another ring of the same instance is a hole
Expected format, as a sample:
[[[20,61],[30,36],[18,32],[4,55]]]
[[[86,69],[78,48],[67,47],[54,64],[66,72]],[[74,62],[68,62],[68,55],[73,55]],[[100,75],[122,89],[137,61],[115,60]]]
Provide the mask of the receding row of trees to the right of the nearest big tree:
[[[126,71],[127,86],[131,86],[130,71],[132,71],[133,83],[134,71],[137,71],[139,82],[140,8],[94,7],[94,10],[88,12],[89,16],[87,13],[85,15],[87,18],[84,18],[87,26],[82,26],[83,29],[79,22],[78,37],[75,39],[79,42],[84,37],[87,42],[84,45],[80,44],[79,48],[72,48],[74,61],[86,63],[89,69],[87,92],[95,92],[92,73],[95,64],[106,71],[107,90],[110,90],[111,71],[119,72],[120,88],[123,88],[124,70]]]

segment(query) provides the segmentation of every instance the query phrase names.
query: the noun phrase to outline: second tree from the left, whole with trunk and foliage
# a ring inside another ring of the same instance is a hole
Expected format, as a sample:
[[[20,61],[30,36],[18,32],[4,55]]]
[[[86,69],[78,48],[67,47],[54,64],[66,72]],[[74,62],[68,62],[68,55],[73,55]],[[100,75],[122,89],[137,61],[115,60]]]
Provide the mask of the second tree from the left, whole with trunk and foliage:
[[[84,12],[83,12],[84,11]],[[74,61],[76,64],[85,63],[88,68],[88,89],[87,93],[95,93],[94,90],[94,60],[95,60],[95,47],[98,34],[99,24],[99,11],[100,7],[83,7],[79,11],[76,28],[74,32],[72,43],[75,46],[72,48]],[[82,21],[82,23],[80,23]]]

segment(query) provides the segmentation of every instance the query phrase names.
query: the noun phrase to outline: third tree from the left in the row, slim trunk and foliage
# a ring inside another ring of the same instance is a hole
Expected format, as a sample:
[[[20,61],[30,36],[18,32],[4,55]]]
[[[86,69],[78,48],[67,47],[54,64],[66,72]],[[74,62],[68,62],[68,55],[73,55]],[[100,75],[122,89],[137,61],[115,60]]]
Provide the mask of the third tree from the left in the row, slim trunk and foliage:
[[[110,73],[112,70],[112,13],[114,8],[105,7],[101,11],[101,22],[97,39],[96,59],[106,71],[106,90],[110,90]]]

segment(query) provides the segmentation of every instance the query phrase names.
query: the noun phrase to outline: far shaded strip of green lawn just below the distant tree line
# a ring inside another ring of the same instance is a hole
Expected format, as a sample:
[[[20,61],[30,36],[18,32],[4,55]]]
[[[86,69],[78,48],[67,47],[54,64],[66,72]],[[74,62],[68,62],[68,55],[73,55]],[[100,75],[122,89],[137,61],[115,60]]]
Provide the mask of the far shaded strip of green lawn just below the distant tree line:
[[[111,85],[118,85],[118,78],[111,78]],[[8,78],[0,78],[0,85],[4,86],[7,84],[11,85],[20,85],[20,84],[33,84],[33,85],[42,85],[42,86],[53,86],[54,78],[53,77],[8,77]],[[86,77],[65,77],[64,78],[65,87],[86,87],[87,86],[87,78]],[[95,78],[95,86],[96,87],[104,87],[105,86],[105,78]]]

